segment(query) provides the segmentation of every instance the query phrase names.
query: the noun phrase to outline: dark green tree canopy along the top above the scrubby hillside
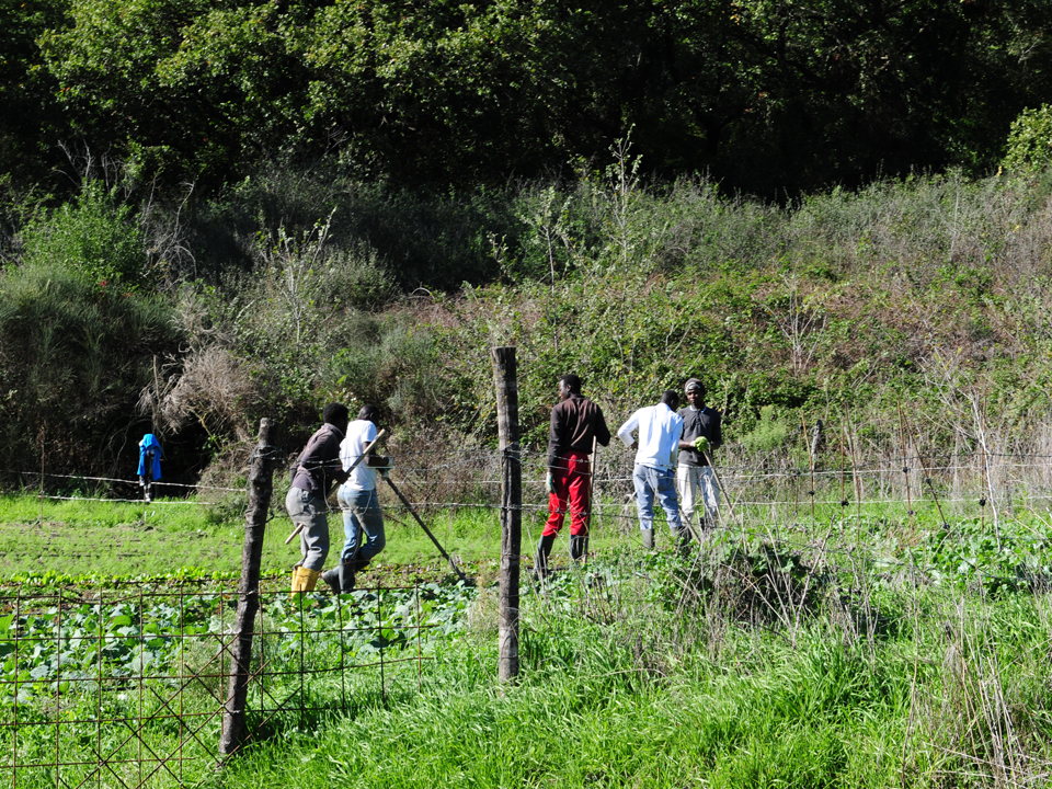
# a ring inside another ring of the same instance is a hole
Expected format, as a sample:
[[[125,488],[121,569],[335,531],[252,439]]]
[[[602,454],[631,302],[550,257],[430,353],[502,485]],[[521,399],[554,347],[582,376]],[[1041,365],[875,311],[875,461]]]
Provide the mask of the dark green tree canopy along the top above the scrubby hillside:
[[[0,34],[7,172],[57,146],[220,184],[329,157],[404,184],[576,168],[798,193],[992,167],[1052,101],[1040,0],[30,0]]]

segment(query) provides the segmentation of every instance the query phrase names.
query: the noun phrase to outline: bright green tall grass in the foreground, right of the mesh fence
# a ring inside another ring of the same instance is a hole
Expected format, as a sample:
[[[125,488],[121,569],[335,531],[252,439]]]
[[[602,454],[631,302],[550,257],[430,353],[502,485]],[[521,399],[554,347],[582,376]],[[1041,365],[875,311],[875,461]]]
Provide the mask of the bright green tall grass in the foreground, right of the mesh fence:
[[[1048,774],[1042,597],[879,584],[879,616],[853,634],[834,598],[756,627],[718,595],[670,608],[632,575],[528,596],[517,685],[494,685],[495,633],[477,619],[415,698],[261,745],[218,782],[937,787]]]

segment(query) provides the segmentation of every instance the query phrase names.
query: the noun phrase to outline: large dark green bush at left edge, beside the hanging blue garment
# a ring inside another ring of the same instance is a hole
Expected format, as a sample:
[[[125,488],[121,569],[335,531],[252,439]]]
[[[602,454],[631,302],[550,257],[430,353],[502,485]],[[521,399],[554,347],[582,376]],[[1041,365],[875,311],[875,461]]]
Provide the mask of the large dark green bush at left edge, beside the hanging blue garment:
[[[52,472],[111,472],[118,457],[130,465],[135,401],[155,357],[181,339],[171,317],[167,300],[114,293],[66,267],[3,272],[0,451],[39,457],[43,439]]]

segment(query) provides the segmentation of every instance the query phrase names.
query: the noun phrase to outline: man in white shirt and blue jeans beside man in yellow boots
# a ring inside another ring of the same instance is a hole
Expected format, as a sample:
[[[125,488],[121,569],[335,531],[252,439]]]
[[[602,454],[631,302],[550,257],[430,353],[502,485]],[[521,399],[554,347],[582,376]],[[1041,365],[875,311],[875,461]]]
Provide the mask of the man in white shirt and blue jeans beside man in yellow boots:
[[[340,444],[340,461],[344,471],[351,468],[376,438],[376,421],[379,414],[380,410],[376,405],[363,405],[358,418],[347,425],[346,436]],[[377,472],[386,473],[389,467],[390,458],[377,455],[374,449],[336,492],[336,500],[343,511],[345,540],[340,563],[321,574],[333,594],[354,591],[355,573],[364,570],[387,545],[376,478]]]

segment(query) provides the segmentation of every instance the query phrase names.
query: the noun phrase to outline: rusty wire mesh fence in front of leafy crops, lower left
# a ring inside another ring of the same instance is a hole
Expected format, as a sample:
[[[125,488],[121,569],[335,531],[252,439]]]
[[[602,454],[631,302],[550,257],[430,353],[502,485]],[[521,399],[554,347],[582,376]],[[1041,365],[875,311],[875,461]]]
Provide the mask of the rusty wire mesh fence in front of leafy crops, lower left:
[[[132,788],[207,775],[237,604],[228,588],[0,588],[0,781]],[[415,687],[456,615],[435,584],[264,592],[245,744]]]

